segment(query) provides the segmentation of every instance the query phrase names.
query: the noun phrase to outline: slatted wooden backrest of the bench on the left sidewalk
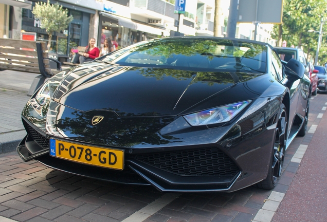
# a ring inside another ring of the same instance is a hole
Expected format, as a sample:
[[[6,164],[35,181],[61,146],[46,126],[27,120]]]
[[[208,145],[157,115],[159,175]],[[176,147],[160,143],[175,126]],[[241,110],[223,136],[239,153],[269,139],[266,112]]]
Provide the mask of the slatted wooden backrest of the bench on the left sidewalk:
[[[40,73],[37,42],[0,39],[0,68]],[[42,45],[43,58],[48,58],[46,42],[40,42]],[[49,60],[43,59],[45,70],[48,75],[52,75]]]

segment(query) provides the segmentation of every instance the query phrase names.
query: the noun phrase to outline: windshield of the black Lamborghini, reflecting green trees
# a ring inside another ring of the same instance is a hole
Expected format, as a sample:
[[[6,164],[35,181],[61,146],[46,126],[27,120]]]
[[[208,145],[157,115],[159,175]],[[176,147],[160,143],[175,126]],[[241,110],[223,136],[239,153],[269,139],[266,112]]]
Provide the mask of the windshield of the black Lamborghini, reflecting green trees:
[[[241,40],[167,38],[122,48],[100,61],[122,66],[265,73],[266,52],[265,45]]]

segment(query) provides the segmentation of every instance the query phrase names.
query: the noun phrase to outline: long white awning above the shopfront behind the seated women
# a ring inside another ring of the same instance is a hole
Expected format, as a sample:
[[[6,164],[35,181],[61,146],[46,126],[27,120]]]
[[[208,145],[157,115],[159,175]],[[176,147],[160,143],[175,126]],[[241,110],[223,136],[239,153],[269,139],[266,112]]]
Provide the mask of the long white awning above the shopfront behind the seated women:
[[[166,29],[155,28],[155,27],[152,27],[152,26],[148,26],[148,25],[144,25],[144,24],[141,24],[141,23],[133,22],[129,18],[124,18],[124,17],[112,15],[112,14],[105,13],[105,12],[100,12],[100,14],[102,14],[102,15],[104,15],[106,17],[110,17],[110,18],[114,18],[115,20],[118,20],[118,25],[119,26],[134,29],[134,30],[137,30],[137,31],[148,32],[148,33],[156,34],[156,35],[161,35],[161,32],[163,32],[163,34],[165,36],[170,35],[169,31],[167,31]]]

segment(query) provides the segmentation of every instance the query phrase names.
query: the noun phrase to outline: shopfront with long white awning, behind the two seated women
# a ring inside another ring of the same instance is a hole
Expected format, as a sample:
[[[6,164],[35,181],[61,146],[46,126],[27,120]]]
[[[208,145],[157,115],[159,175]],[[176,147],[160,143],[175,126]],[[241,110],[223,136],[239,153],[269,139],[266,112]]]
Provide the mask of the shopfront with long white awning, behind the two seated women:
[[[137,23],[129,18],[100,12],[98,42],[103,46],[105,38],[116,40],[119,47],[132,45],[136,42],[160,38],[169,35],[166,29]]]

